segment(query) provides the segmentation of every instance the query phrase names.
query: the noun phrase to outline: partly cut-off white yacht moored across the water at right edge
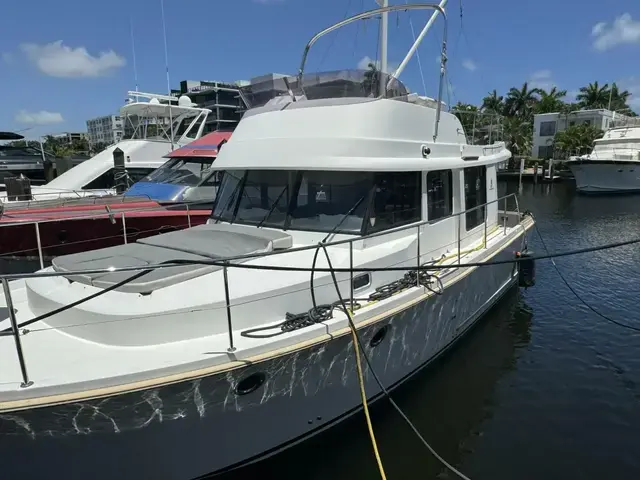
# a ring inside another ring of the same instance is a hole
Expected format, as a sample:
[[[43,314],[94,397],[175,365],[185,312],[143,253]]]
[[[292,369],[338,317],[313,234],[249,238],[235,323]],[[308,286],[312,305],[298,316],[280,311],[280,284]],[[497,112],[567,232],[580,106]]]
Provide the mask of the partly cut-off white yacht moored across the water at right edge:
[[[614,118],[587,155],[566,162],[583,193],[640,192],[640,120]]]

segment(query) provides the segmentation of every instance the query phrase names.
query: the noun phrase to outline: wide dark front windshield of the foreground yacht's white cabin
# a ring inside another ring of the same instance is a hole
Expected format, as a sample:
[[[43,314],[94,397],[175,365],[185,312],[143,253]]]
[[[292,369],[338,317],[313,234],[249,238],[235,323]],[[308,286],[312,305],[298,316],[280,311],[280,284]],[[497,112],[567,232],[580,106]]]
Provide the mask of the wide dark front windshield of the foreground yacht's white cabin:
[[[212,218],[229,223],[360,233],[373,187],[368,172],[224,172]]]

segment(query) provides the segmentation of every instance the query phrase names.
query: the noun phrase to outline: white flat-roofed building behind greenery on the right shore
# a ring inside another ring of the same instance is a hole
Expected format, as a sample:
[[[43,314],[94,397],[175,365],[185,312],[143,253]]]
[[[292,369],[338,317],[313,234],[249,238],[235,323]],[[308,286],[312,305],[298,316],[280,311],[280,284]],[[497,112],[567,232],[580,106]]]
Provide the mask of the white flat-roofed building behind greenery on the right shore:
[[[573,125],[588,124],[600,130],[607,130],[614,119],[624,115],[604,108],[596,110],[577,110],[570,113],[539,113],[533,117],[533,158],[553,158],[553,139],[557,132],[562,132]]]

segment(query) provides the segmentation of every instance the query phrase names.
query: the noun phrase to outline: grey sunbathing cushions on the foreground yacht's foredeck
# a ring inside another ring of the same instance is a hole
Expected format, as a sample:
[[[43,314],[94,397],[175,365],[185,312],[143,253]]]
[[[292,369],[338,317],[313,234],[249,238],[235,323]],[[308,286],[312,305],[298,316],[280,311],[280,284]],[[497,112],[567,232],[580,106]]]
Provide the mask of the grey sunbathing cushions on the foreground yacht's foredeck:
[[[178,232],[140,239],[136,243],[64,255],[53,260],[57,272],[98,270],[109,267],[145,267],[170,261],[211,261],[225,257],[267,253],[291,248],[291,236],[277,230],[228,224],[206,224]],[[118,287],[128,293],[149,294],[219,270],[216,265],[181,265],[152,270]],[[69,274],[73,282],[107,288],[132,277],[137,271]]]

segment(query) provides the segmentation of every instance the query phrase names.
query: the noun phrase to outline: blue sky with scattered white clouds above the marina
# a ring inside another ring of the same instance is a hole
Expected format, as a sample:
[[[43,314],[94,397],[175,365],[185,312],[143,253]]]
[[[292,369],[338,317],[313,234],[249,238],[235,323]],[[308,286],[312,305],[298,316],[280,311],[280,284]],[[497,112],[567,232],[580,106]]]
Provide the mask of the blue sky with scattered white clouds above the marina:
[[[166,94],[167,64],[171,88],[294,74],[316,32],[375,7],[374,0],[9,0],[1,10],[0,130],[28,138],[86,131],[87,119],[117,113],[136,76],[140,91]],[[524,82],[557,86],[571,99],[597,80],[629,90],[640,112],[639,0],[452,0],[446,10],[445,102],[480,103],[493,89],[505,94]],[[390,14],[391,67],[429,15]],[[437,96],[443,30],[438,18],[401,75],[412,91]],[[311,49],[307,71],[366,66],[378,58],[377,36],[377,20],[333,32]]]

